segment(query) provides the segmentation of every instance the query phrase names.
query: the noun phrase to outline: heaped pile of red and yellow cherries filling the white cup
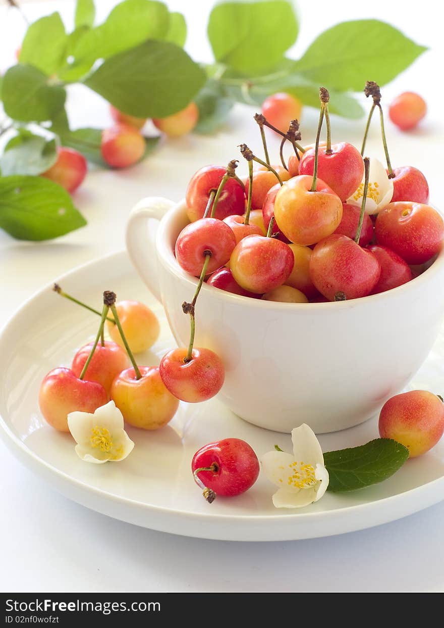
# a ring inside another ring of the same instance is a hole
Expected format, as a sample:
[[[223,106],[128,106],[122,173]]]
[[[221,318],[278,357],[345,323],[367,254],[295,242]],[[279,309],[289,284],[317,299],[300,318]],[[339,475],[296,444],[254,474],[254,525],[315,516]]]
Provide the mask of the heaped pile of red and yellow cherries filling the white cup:
[[[443,219],[426,205],[428,184],[420,170],[391,167],[378,85],[368,82],[366,94],[373,97],[371,114],[376,107],[381,111],[388,163],[383,175],[393,183],[385,205],[372,203],[366,212],[369,198],[378,194],[378,181],[369,180],[371,164],[366,168],[362,157],[366,138],[362,154],[352,144],[331,143],[329,94],[321,88],[314,145],[300,146],[297,121],[282,133],[256,114],[265,161],[241,144],[249,167],[245,185],[235,175],[235,160],[226,170],[206,166],[191,178],[186,193],[191,222],[176,242],[180,266],[196,277],[204,273],[206,283],[221,290],[292,303],[374,295],[423,271],[441,250]],[[320,143],[324,119],[327,141]],[[264,126],[282,135],[282,166],[270,165]],[[288,166],[285,141],[295,149]],[[253,170],[253,161],[259,170]],[[361,207],[346,202],[353,195],[362,198]]]

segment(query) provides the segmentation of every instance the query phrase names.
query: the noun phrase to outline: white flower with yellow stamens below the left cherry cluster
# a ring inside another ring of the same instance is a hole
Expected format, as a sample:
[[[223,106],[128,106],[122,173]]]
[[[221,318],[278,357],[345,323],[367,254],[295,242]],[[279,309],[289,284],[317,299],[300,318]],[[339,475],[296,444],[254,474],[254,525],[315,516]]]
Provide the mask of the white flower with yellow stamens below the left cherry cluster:
[[[68,427],[77,442],[75,451],[85,462],[119,462],[134,448],[124,430],[124,417],[114,401],[100,406],[93,414],[71,412]]]

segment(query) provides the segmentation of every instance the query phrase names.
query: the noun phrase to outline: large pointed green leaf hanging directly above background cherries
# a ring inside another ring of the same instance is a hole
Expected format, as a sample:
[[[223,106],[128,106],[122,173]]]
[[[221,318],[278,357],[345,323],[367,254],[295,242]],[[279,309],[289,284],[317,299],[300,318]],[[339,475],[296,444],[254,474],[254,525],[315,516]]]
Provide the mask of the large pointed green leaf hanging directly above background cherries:
[[[145,41],[103,62],[85,85],[125,114],[166,117],[184,109],[205,79],[179,46]]]

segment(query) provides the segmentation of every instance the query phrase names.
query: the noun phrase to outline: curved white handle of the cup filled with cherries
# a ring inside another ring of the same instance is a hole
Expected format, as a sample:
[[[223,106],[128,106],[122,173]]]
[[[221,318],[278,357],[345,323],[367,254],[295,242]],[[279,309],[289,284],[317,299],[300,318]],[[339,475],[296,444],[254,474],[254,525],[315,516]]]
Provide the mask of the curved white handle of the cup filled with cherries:
[[[126,245],[130,260],[158,301],[161,288],[157,272],[156,232],[160,220],[176,203],[147,197],[132,208],[127,222]]]

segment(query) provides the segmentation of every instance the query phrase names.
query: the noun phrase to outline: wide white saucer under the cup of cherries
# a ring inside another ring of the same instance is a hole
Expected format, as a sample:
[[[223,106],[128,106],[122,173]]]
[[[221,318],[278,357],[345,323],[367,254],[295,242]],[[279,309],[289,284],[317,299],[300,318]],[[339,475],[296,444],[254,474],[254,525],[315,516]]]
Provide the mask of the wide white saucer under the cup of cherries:
[[[103,290],[118,300],[144,301],[161,320],[161,338],[140,364],[157,364],[174,339],[161,305],[150,295],[125,252],[98,259],[57,279],[63,289],[100,309]],[[134,452],[123,462],[92,465],[74,452],[70,435],[46,425],[38,409],[41,379],[69,366],[77,348],[97,330],[98,317],[57,296],[51,286],[24,303],[0,334],[0,435],[36,475],[66,497],[108,516],[174,534],[231,541],[282,541],[340,534],[399,519],[444,499],[444,438],[408,462],[383,484],[349,494],[327,492],[302,510],[272,505],[274,490],[260,475],[235,498],[204,501],[191,475],[191,458],[202,445],[236,436],[258,457],[277,443],[291,451],[290,436],[256,428],[217,399],[181,403],[169,425],[156,432],[128,428]],[[406,338],[408,342],[408,338]],[[411,388],[442,394],[444,330]],[[361,445],[378,436],[377,419],[320,436],[324,451]],[[42,504],[42,507],[45,507]]]

